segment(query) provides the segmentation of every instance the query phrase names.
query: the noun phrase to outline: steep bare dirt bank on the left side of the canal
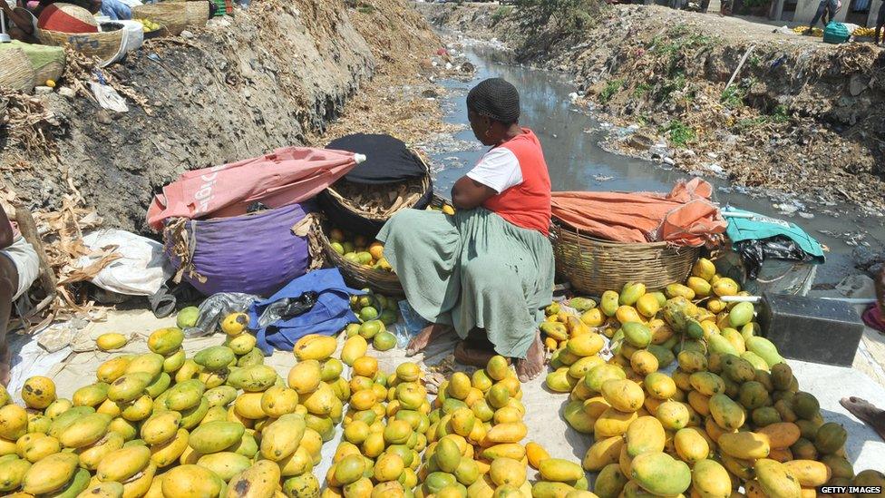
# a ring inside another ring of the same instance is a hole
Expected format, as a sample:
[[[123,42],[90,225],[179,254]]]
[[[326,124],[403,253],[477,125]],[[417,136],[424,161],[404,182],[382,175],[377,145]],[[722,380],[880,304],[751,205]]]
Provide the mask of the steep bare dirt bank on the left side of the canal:
[[[146,106],[114,113],[82,96],[38,97],[46,140],[0,127],[0,181],[34,209],[57,208],[71,181],[109,225],[139,230],[154,191],[182,171],[306,143],[379,69],[417,74],[417,57],[437,45],[404,0],[259,0],[112,66]]]

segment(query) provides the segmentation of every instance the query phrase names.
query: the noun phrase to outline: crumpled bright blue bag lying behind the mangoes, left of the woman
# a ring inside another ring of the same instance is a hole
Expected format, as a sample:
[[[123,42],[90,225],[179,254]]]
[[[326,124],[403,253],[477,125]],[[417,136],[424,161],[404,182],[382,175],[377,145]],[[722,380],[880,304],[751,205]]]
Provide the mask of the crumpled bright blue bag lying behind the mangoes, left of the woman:
[[[316,304],[309,311],[287,320],[277,320],[267,327],[258,326],[258,317],[265,308],[279,299],[298,298],[307,291],[318,294]],[[249,328],[256,330],[258,348],[265,355],[273,353],[274,348],[291,351],[301,337],[308,334],[332,336],[348,323],[358,321],[350,309],[350,296],[363,294],[362,290],[348,288],[338,269],[319,269],[292,280],[270,298],[253,303],[248,311]]]

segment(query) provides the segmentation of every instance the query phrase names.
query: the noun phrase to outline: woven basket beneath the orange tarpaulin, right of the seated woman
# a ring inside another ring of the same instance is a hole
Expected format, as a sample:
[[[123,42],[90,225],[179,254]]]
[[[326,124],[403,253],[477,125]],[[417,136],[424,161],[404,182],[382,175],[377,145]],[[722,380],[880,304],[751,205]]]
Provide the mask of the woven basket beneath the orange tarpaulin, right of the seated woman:
[[[682,282],[700,248],[666,242],[624,243],[594,239],[553,221],[550,243],[556,270],[581,293],[600,296],[620,290],[627,282],[642,282],[649,291]]]

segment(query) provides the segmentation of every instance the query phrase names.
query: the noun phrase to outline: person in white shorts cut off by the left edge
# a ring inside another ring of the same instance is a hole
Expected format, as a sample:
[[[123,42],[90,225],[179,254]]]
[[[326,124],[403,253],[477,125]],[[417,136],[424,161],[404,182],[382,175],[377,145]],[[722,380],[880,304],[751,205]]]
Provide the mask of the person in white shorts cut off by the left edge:
[[[11,354],[6,327],[13,302],[31,287],[40,273],[40,259],[0,206],[0,384],[9,383]]]

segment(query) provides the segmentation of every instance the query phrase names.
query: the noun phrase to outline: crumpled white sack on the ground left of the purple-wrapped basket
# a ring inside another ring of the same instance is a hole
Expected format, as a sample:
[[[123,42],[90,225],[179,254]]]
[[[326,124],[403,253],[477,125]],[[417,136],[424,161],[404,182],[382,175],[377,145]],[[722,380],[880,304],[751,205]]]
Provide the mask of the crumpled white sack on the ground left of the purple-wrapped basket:
[[[96,252],[116,246],[114,252],[122,256],[92,278],[100,288],[129,296],[151,296],[172,276],[172,266],[160,242],[125,230],[103,229],[84,236],[83,243]],[[92,257],[84,256],[78,264],[86,267],[92,261]]]

